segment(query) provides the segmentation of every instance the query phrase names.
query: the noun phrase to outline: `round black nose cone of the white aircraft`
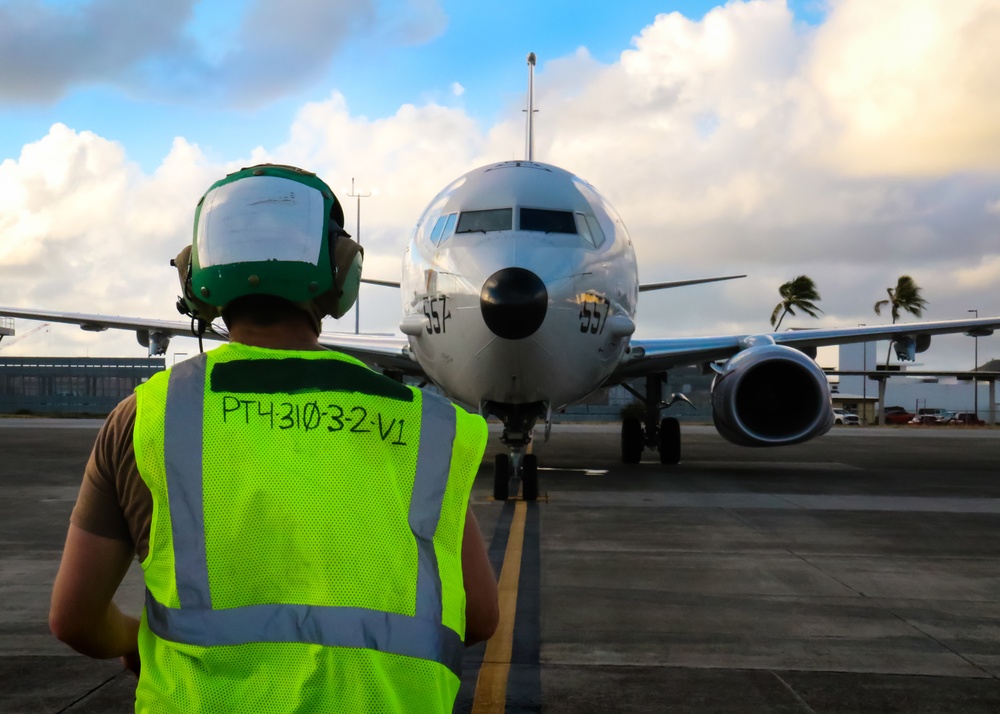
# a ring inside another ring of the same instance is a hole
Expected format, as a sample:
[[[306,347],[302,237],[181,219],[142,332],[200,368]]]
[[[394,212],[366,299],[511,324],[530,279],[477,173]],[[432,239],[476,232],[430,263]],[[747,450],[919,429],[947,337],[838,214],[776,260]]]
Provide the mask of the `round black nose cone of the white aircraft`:
[[[497,337],[520,340],[535,334],[545,320],[549,293],[530,270],[504,268],[493,273],[479,294],[486,326]]]

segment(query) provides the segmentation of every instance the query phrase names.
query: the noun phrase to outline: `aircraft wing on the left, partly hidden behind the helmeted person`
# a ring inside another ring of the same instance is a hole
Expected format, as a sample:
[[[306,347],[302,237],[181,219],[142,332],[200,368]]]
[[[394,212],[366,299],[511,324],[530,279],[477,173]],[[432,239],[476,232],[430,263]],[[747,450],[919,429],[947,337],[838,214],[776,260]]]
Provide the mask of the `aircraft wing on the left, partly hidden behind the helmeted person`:
[[[0,307],[0,317],[79,325],[80,329],[88,332],[104,332],[109,329],[134,330],[139,344],[149,347],[150,354],[163,354],[172,337],[195,336],[189,320],[152,320],[80,312],[24,310],[14,307]],[[229,332],[224,325],[213,323],[208,326],[204,338],[207,340],[227,340]],[[423,375],[420,365],[410,358],[407,340],[402,336],[324,332],[320,335],[320,344],[357,357],[366,364],[374,364],[383,369],[413,376]]]

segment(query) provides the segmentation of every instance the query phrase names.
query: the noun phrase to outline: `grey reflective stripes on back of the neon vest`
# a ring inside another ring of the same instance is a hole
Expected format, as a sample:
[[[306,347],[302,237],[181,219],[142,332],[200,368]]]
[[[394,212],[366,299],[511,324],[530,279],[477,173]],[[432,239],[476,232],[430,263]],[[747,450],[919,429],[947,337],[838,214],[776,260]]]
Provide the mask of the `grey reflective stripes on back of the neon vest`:
[[[170,372],[164,413],[164,459],[180,609],[158,602],[147,589],[149,629],[165,640],[200,645],[301,642],[326,647],[364,647],[438,662],[461,676],[464,644],[441,621],[441,576],[434,533],[451,464],[451,450],[435,447],[455,439],[455,407],[422,393],[420,443],[409,525],[417,546],[415,616],[352,607],[263,604],[213,610],[205,547],[202,450],[207,355]]]

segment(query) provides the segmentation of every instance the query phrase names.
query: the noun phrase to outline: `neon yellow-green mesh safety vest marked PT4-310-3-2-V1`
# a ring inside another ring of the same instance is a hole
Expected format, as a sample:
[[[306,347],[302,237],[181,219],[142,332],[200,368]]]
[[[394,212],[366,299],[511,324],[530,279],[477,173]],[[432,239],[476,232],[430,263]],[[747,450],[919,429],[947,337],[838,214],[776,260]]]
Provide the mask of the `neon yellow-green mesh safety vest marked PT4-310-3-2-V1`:
[[[136,395],[136,711],[451,711],[485,421],[346,355],[237,343]]]

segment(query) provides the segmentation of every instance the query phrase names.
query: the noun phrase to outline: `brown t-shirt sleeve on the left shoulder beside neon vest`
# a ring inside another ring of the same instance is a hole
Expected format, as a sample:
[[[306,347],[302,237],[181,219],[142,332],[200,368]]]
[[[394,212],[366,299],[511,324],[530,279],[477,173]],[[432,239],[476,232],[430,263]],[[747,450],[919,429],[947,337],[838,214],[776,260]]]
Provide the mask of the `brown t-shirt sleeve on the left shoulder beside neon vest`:
[[[144,560],[153,496],[135,464],[134,426],[133,394],[114,408],[97,434],[70,522],[94,535],[131,542],[139,560]]]

